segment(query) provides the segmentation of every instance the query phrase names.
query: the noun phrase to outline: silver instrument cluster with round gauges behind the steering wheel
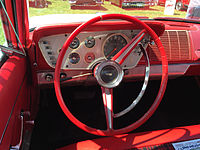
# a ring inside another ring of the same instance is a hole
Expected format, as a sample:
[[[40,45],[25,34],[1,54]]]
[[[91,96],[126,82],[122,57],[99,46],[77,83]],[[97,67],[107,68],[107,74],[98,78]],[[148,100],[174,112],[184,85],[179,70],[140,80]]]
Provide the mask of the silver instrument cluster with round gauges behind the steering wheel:
[[[97,63],[111,59],[140,30],[116,30],[81,32],[70,44],[62,62],[62,69],[89,70]],[[42,37],[38,45],[46,62],[55,68],[56,61],[64,42],[70,33]],[[149,37],[146,35],[141,41],[147,46]],[[141,50],[136,47],[123,63],[123,68],[132,68],[142,57]]]

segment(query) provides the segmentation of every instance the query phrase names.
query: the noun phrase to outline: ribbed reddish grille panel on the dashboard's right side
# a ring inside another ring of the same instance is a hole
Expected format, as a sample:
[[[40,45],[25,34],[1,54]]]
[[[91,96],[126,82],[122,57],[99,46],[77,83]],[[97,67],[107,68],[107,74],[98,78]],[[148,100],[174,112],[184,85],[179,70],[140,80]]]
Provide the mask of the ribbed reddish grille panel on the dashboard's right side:
[[[188,31],[165,31],[160,37],[168,61],[191,60],[191,45]],[[161,61],[160,52],[155,45],[149,47],[151,61]]]

